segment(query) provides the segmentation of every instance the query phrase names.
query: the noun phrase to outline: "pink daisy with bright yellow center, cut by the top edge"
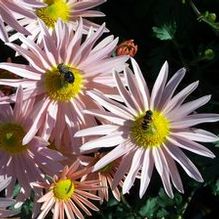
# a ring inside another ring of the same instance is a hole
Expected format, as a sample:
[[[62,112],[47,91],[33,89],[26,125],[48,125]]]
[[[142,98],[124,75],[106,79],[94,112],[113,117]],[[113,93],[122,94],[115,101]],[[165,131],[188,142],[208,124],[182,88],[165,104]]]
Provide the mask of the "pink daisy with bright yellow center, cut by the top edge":
[[[88,17],[102,17],[105,16],[102,12],[93,10],[94,7],[103,4],[106,0],[41,0],[45,4],[44,7],[37,8],[34,11],[35,17],[30,18],[26,16],[19,17],[19,23],[31,32],[29,36],[33,40],[40,41],[40,24],[41,19],[46,26],[52,31],[58,20],[64,23],[71,24],[73,29],[76,30],[80,18],[83,18],[84,31],[87,32],[91,26],[95,29],[99,25],[87,20]],[[10,31],[10,29],[8,29]],[[105,28],[105,31],[108,31]],[[18,38],[18,34],[10,37],[10,41]]]

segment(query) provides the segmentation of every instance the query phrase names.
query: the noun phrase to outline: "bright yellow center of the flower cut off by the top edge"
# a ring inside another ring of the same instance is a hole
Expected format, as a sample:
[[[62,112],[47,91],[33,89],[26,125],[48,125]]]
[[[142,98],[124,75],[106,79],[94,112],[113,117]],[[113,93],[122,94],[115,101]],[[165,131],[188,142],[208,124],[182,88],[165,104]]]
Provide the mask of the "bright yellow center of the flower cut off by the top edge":
[[[58,19],[67,22],[70,17],[70,7],[66,0],[44,0],[48,6],[36,10],[36,15],[44,21],[47,27],[54,28]]]

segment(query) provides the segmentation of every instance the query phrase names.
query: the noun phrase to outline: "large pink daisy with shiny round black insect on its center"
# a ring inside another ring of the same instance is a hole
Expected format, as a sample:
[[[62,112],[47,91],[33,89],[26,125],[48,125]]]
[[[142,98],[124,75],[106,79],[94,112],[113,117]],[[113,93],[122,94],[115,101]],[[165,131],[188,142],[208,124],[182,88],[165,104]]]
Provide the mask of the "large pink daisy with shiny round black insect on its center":
[[[73,134],[83,126],[96,124],[93,116],[85,116],[83,109],[98,107],[86,95],[87,90],[99,90],[106,95],[116,93],[113,86],[112,69],[121,71],[127,56],[111,57],[118,39],[108,36],[98,44],[104,32],[104,24],[87,35],[82,42],[82,21],[76,32],[71,26],[57,23],[50,34],[41,23],[43,45],[21,36],[27,46],[7,45],[25,57],[30,65],[0,63],[0,68],[23,77],[18,80],[1,79],[1,85],[24,88],[24,98],[36,97],[33,125],[24,137],[27,144],[40,129],[41,135],[55,145],[61,145],[62,138],[75,145]],[[41,128],[40,128],[41,127]],[[75,147],[76,148],[76,147]],[[76,150],[76,149],[74,149]]]

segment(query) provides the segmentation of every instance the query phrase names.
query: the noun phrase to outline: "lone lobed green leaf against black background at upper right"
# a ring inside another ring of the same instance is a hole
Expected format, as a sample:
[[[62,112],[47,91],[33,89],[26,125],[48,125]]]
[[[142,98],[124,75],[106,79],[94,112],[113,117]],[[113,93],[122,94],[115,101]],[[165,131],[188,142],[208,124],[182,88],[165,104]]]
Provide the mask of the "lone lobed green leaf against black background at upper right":
[[[163,24],[160,27],[152,27],[156,38],[160,40],[173,40],[176,33],[176,22]]]

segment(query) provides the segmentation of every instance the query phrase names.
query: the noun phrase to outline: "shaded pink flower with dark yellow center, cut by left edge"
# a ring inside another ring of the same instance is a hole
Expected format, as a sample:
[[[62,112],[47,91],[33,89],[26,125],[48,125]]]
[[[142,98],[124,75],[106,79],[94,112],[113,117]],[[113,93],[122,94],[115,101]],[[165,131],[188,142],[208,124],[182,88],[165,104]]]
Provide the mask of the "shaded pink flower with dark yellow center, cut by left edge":
[[[15,100],[14,109],[10,104],[0,104],[0,175],[11,177],[7,186],[8,197],[12,196],[18,181],[21,186],[18,200],[22,201],[30,196],[31,182],[42,181],[45,174],[62,170],[59,161],[64,158],[59,152],[47,148],[48,143],[37,136],[33,136],[28,144],[22,144],[32,123],[30,115],[33,101],[23,101],[21,88]]]

